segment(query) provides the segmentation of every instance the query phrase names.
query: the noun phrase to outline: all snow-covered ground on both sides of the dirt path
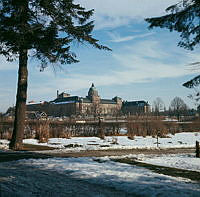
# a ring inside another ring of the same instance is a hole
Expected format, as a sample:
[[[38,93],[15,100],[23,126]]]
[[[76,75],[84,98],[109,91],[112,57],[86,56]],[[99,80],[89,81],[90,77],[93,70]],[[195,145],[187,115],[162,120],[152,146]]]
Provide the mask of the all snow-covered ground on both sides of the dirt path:
[[[159,139],[160,148],[194,147],[200,133],[178,133]],[[38,144],[26,139],[25,143]],[[117,142],[117,144],[113,144]],[[126,136],[49,139],[41,145],[57,151],[90,149],[156,148],[152,137]],[[74,147],[71,147],[74,146]],[[0,148],[8,147],[0,140]],[[71,148],[70,148],[71,147]],[[4,150],[6,151],[6,150]],[[195,154],[127,155],[137,161],[200,172],[200,159]],[[39,197],[199,197],[200,183],[190,179],[161,175],[146,168],[114,162],[116,157],[24,159],[0,162],[0,196]]]

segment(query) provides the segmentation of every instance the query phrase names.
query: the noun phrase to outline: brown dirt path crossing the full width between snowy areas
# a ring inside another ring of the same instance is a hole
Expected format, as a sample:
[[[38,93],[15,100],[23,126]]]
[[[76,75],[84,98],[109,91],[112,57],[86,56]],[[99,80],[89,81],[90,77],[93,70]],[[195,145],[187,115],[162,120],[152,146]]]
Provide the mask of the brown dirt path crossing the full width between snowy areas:
[[[115,150],[86,150],[69,151],[51,150],[46,147],[36,145],[25,145],[26,151],[2,151],[0,152],[0,162],[13,161],[29,158],[49,158],[49,157],[104,157],[104,156],[123,156],[129,154],[181,154],[195,153],[192,148],[173,148],[173,149],[115,149]],[[38,152],[39,151],[39,152]]]

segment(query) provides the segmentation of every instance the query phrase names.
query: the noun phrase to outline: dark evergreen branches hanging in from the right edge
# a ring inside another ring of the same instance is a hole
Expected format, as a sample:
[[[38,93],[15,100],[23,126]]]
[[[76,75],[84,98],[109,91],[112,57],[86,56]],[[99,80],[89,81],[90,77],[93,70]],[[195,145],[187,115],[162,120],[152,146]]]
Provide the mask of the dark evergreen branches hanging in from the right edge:
[[[168,7],[166,12],[169,14],[145,19],[150,24],[149,28],[160,27],[179,32],[181,40],[178,46],[185,49],[193,50],[195,46],[198,46],[200,44],[200,1],[181,0]],[[200,62],[194,62],[191,65],[200,65]],[[183,86],[194,88],[199,84],[200,75],[197,75]],[[190,97],[199,101],[199,91],[195,91],[194,95],[190,95]]]

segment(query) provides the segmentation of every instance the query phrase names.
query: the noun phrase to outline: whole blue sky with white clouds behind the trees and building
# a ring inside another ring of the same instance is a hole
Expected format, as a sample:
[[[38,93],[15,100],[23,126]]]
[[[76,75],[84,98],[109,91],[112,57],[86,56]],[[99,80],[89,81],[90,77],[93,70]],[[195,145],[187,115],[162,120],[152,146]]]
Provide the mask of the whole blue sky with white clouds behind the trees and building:
[[[76,0],[94,9],[93,35],[112,51],[102,51],[76,42],[72,47],[80,62],[62,68],[49,66],[39,71],[39,63],[29,58],[27,101],[50,101],[56,91],[86,96],[92,83],[101,98],[145,100],[160,97],[166,107],[179,96],[189,107],[192,90],[182,86],[197,75],[189,64],[199,61],[199,49],[177,47],[179,34],[167,29],[148,29],[144,18],[166,14],[178,0]],[[0,56],[0,112],[15,105],[18,62]]]

